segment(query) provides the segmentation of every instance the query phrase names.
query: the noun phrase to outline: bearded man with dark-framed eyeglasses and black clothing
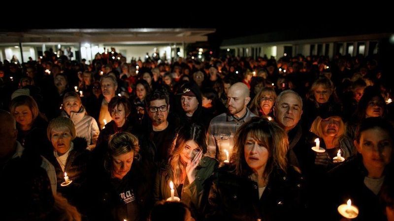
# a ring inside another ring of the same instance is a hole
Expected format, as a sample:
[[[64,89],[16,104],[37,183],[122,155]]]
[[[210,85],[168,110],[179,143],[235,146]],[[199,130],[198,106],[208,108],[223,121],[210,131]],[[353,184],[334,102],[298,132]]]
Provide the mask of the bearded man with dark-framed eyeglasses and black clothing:
[[[145,150],[150,150],[151,153],[146,153],[148,158],[159,163],[166,162],[179,120],[169,114],[169,95],[163,90],[151,92],[145,100],[150,123],[141,130],[138,139]]]

